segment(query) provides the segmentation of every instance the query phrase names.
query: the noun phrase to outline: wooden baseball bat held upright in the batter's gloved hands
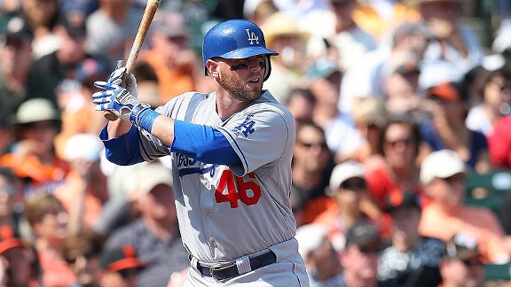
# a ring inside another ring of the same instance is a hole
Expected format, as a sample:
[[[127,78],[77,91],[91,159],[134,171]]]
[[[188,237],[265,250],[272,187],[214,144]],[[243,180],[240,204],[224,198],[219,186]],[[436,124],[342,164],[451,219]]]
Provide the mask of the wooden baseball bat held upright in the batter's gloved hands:
[[[160,3],[161,0],[147,0],[147,4],[145,4],[144,15],[142,15],[142,19],[140,20],[140,25],[138,26],[137,35],[135,35],[133,45],[131,45],[130,55],[126,59],[126,73],[123,75],[124,77],[130,74],[133,69],[133,65],[138,58],[138,53],[140,53],[140,50],[142,49],[145,35],[147,35],[147,31],[149,31],[151,22],[153,22],[154,19],[154,14],[156,14],[156,10],[158,10]],[[122,64],[122,60],[117,62],[118,67],[123,66]],[[114,112],[110,111],[105,111],[104,117],[106,120],[117,120],[117,116]]]

